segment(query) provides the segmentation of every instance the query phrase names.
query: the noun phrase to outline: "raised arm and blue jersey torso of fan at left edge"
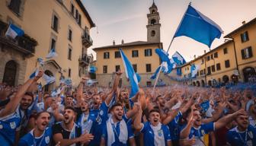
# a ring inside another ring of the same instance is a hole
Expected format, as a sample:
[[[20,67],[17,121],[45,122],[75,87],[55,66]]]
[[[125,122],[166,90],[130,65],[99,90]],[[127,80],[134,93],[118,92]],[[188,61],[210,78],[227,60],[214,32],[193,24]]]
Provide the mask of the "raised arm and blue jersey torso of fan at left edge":
[[[21,97],[27,92],[31,84],[37,82],[43,76],[43,71],[39,71],[37,76],[26,81],[14,95],[5,108],[0,110],[0,141],[2,145],[14,145],[15,132],[21,125],[21,112],[18,105]]]

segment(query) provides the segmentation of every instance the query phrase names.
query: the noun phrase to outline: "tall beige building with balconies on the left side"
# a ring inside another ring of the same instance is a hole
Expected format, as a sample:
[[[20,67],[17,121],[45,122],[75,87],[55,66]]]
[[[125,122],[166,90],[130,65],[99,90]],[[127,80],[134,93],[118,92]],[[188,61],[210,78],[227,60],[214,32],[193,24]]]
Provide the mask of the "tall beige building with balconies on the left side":
[[[5,37],[8,24],[24,30],[23,37]],[[79,76],[87,71],[92,56],[90,29],[95,24],[80,0],[2,0],[0,1],[0,82],[23,84],[44,59],[46,75],[71,78],[78,84]],[[58,54],[46,59],[50,49]]]

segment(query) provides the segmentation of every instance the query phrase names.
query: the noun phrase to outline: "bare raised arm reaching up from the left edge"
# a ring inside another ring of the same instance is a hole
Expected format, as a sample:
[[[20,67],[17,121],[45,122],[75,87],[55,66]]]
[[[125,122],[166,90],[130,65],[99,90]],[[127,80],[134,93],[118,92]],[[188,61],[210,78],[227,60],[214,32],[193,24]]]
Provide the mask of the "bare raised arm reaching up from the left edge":
[[[34,82],[37,82],[39,78],[43,76],[43,71],[39,71],[37,76],[34,78],[30,78],[23,84],[19,90],[17,91],[17,94],[13,98],[11,98],[10,102],[5,106],[5,109],[2,109],[2,112],[0,113],[0,117],[8,116],[11,113],[14,113],[14,111],[17,109],[18,104],[21,101],[21,97],[24,96],[26,93],[28,87],[30,87],[31,84]]]

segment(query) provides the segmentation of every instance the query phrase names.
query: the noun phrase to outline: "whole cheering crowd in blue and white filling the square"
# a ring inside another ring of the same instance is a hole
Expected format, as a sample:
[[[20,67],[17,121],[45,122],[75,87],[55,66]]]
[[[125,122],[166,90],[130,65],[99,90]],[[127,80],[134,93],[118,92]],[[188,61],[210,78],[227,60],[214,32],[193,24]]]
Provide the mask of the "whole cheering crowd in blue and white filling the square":
[[[255,90],[175,84],[140,87],[130,97],[120,87],[58,94],[39,90],[43,71],[18,87],[0,84],[0,145],[256,145]]]

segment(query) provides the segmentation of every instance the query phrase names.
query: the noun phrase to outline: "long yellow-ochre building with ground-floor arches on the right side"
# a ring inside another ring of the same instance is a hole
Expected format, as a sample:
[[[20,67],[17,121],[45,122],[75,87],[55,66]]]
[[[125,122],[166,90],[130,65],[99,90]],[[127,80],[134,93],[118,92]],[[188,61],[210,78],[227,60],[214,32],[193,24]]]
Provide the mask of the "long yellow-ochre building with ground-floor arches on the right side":
[[[181,66],[184,84],[216,86],[248,82],[256,77],[256,18],[243,22],[224,38],[222,45]],[[200,65],[196,78],[190,78],[192,64]]]

